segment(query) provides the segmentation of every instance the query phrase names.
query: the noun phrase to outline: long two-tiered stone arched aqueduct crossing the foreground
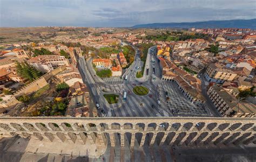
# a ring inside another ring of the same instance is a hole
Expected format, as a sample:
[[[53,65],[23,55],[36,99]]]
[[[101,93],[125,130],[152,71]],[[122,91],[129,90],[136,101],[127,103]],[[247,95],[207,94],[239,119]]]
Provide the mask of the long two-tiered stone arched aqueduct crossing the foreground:
[[[143,145],[256,144],[256,118],[214,117],[1,117],[0,137],[36,137],[124,147]],[[157,140],[156,140],[157,139]]]

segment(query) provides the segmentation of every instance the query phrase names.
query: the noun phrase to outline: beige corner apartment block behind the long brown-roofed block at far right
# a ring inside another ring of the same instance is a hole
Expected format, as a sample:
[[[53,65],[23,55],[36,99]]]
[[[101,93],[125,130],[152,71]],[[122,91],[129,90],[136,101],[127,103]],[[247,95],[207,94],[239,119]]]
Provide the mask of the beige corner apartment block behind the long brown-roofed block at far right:
[[[224,83],[232,81],[237,76],[231,69],[221,66],[218,63],[210,64],[206,69],[205,78],[209,82]]]

